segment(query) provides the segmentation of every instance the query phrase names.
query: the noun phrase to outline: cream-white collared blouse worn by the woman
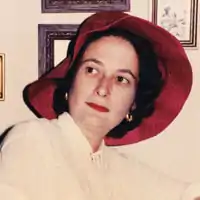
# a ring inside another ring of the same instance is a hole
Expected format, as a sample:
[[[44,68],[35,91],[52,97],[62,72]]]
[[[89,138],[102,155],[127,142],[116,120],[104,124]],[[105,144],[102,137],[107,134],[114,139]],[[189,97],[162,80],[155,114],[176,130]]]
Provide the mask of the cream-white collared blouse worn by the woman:
[[[16,125],[1,148],[2,200],[193,200],[189,186],[102,143],[92,153],[67,113]]]

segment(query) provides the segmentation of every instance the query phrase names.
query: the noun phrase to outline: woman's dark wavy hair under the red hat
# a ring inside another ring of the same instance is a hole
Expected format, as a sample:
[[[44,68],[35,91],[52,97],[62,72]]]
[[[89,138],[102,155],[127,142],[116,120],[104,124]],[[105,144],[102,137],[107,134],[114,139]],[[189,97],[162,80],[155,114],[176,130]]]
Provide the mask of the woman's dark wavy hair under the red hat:
[[[81,47],[73,66],[69,69],[66,76],[63,79],[57,80],[58,88],[54,93],[53,108],[58,115],[68,111],[65,93],[69,92],[73,84],[79,66],[78,63],[89,44],[104,36],[118,36],[130,42],[135,48],[139,58],[139,81],[135,96],[136,108],[131,113],[133,121],[127,122],[124,119],[107,134],[108,137],[121,138],[127,131],[138,127],[145,117],[149,117],[153,113],[155,99],[160,94],[164,85],[162,74],[158,68],[157,55],[151,43],[141,36],[116,28],[92,33]],[[72,41],[72,45],[68,49],[71,53],[73,52],[74,43],[75,41]]]

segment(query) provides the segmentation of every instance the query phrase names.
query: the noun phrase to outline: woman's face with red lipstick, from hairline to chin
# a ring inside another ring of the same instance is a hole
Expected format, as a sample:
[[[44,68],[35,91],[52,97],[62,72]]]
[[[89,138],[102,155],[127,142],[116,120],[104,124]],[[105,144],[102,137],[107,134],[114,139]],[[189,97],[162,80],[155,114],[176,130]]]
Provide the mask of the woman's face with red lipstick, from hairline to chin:
[[[70,115],[78,124],[109,132],[134,106],[138,73],[138,56],[128,41],[106,36],[91,43],[69,92]]]

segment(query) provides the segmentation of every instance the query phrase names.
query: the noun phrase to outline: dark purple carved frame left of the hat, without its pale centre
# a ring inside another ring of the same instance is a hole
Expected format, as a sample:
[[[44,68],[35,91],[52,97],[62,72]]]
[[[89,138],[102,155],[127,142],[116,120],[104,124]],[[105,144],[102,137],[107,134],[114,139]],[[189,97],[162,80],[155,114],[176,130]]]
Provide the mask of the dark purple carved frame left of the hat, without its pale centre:
[[[54,41],[71,40],[79,25],[39,24],[38,25],[38,76],[54,67]],[[66,50],[67,51],[67,50]]]

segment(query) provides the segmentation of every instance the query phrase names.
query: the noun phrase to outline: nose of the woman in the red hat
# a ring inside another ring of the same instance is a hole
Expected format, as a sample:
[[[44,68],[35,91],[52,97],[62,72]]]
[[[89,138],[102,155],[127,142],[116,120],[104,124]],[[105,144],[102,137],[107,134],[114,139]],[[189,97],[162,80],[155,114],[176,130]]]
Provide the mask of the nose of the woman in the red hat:
[[[110,94],[111,80],[106,77],[102,77],[96,87],[95,93],[101,97],[106,97]]]

